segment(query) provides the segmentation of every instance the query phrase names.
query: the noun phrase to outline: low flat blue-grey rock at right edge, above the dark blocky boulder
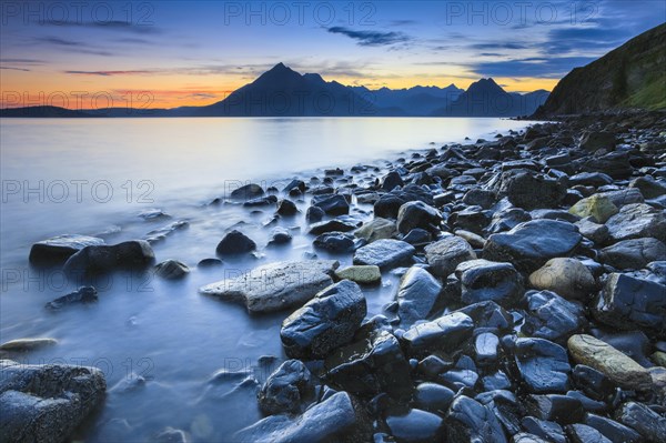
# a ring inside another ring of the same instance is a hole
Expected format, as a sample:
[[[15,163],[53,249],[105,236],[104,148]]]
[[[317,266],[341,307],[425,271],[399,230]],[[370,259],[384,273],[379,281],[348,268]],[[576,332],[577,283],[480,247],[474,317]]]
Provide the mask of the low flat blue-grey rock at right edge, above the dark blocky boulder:
[[[657,239],[633,239],[599,251],[599,260],[617,269],[643,269],[666,258],[666,245]]]

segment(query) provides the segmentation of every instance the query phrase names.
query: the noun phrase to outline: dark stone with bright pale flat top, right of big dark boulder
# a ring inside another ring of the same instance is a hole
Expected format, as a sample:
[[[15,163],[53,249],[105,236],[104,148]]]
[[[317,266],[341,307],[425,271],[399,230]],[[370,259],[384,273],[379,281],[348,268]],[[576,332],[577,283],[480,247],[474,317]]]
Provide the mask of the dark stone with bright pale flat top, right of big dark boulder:
[[[472,336],[474,322],[462,312],[443,315],[410,328],[403,335],[410,356],[425,356],[435,350],[452,351]]]

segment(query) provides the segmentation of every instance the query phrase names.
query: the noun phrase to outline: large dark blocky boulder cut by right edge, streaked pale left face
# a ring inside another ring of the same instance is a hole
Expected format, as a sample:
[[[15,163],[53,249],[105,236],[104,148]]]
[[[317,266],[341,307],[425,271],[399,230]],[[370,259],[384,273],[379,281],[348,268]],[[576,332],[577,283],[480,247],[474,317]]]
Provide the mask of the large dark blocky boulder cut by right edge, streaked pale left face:
[[[596,303],[594,316],[622,330],[642,328],[657,335],[666,333],[666,286],[625,274],[610,274]]]

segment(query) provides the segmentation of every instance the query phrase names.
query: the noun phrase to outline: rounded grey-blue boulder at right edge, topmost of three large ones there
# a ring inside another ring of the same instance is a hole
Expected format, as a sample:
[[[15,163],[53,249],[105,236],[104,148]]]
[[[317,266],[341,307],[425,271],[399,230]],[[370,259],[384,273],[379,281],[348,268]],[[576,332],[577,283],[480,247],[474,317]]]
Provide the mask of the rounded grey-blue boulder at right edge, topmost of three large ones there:
[[[627,204],[606,222],[614,242],[652,236],[666,241],[666,217],[645,203]]]

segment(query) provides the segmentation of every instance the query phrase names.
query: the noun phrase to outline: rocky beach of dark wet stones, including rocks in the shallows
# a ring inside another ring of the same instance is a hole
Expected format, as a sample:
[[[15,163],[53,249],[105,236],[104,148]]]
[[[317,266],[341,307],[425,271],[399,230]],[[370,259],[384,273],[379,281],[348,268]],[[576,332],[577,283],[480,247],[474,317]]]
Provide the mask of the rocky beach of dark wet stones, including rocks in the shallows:
[[[206,240],[216,256],[198,270],[211,275],[311,244],[200,288],[283,319],[283,354],[256,362],[272,364],[263,380],[215,375],[255,392],[264,415],[225,441],[666,441],[666,114],[563,117],[382,164],[248,184],[206,205],[266,219],[265,242],[243,225]],[[117,244],[72,233],[26,256],[92,282],[47,305],[68,310],[97,302],[94,275],[191,278],[153,251],[185,224]],[[380,309],[376,288],[392,292]],[[0,346],[3,441],[67,440],[103,405],[100,370],[18,362],[44,346],[58,343]],[[199,441],[176,426],[153,437]]]

